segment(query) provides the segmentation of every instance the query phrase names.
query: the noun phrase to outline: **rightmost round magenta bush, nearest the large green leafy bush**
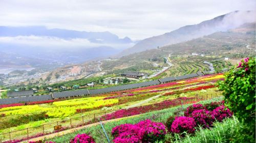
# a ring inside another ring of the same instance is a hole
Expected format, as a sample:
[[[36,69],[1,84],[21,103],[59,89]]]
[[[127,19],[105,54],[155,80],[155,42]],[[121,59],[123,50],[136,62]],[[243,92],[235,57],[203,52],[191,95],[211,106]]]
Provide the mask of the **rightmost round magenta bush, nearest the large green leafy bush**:
[[[222,122],[224,118],[230,117],[233,113],[226,108],[224,105],[217,107],[211,111],[211,114],[216,118],[217,121]]]

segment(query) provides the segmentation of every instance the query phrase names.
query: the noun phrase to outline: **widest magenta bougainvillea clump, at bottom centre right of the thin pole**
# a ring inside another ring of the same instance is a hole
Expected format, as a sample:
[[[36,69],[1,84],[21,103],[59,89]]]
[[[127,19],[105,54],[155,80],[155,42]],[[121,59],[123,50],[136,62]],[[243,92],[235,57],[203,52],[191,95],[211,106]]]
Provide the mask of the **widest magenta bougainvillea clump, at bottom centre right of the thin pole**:
[[[112,129],[113,142],[156,142],[164,140],[166,134],[162,123],[151,120],[141,121],[135,125],[123,124]]]

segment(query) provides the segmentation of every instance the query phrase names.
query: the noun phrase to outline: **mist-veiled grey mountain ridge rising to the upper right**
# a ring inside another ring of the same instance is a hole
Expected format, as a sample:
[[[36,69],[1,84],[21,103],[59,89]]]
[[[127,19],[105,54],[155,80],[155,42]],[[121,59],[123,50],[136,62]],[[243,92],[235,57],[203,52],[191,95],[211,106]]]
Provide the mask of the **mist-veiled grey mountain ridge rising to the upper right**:
[[[175,44],[204,35],[209,35],[218,31],[227,31],[243,25],[244,23],[255,22],[256,14],[254,11],[234,11],[210,20],[203,21],[197,25],[181,27],[163,35],[154,36],[141,40],[133,47],[126,49],[118,56],[138,53],[145,50],[155,49],[158,46]]]

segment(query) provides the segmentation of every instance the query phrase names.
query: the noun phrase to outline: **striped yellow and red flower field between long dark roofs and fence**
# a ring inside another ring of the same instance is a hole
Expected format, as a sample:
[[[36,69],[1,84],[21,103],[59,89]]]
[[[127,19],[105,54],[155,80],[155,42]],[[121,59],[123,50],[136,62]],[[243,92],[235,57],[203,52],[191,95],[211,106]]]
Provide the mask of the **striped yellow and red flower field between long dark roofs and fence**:
[[[0,132],[25,129],[27,127],[41,125],[42,123],[55,122],[60,119],[67,120],[68,118],[81,115],[96,114],[102,112],[102,109],[110,113],[102,116],[101,120],[110,120],[112,118],[130,116],[180,105],[181,103],[173,101],[175,99],[187,99],[191,100],[189,103],[193,103],[193,99],[195,100],[196,96],[199,94],[218,91],[215,82],[222,80],[222,78],[222,74],[207,75],[178,82],[99,94],[94,97],[33,102],[28,103],[28,105],[5,105],[0,107],[0,118],[5,121],[0,122],[0,126],[5,124],[8,124],[8,126],[3,126]],[[125,109],[126,106],[136,104],[159,94],[162,96],[157,100],[147,102],[138,107]],[[113,112],[112,110],[116,111]],[[39,114],[42,116],[37,117]],[[19,123],[17,119],[22,117],[28,118],[28,120]],[[34,118],[36,118],[36,120],[34,120]],[[10,120],[15,120],[18,124],[9,123],[8,121]]]

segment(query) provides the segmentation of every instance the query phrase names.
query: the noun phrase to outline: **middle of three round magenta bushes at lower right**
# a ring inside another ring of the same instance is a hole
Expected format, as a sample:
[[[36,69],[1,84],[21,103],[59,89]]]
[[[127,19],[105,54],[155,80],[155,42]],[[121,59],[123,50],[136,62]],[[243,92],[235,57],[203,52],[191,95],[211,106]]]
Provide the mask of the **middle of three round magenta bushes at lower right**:
[[[194,110],[191,114],[191,117],[195,119],[197,125],[200,125],[202,128],[209,128],[214,122],[214,115],[206,109]]]

